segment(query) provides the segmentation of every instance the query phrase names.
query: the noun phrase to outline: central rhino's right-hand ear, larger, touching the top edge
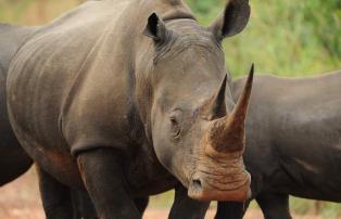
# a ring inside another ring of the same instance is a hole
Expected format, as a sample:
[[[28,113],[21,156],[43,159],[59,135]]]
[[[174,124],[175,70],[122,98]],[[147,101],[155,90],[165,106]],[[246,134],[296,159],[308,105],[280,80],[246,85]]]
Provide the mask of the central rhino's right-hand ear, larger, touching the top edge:
[[[224,13],[209,28],[218,40],[223,40],[243,30],[249,17],[249,0],[229,0]]]

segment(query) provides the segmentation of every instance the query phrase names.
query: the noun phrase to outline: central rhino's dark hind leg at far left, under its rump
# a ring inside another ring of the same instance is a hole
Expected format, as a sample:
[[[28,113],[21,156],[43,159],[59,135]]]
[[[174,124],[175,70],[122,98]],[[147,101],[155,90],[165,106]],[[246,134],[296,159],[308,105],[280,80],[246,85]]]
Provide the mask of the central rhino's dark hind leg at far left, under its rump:
[[[37,166],[39,190],[47,219],[72,219],[70,189]]]

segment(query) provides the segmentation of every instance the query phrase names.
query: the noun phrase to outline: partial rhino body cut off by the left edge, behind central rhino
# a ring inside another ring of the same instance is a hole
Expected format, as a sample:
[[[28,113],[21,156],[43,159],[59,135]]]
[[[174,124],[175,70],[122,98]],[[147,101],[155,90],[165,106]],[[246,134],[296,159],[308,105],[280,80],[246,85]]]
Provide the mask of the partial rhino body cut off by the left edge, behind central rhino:
[[[7,110],[5,82],[12,57],[36,29],[0,24],[0,186],[23,175],[33,164],[12,131]]]

